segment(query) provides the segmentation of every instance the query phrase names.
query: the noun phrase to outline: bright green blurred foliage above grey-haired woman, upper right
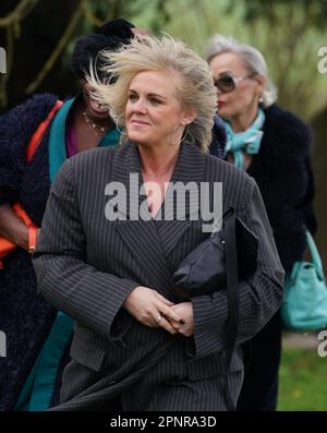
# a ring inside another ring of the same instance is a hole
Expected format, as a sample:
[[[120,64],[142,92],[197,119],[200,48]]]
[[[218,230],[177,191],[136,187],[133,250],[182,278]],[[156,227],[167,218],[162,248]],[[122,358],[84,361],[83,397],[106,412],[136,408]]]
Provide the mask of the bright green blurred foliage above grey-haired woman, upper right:
[[[327,45],[327,0],[167,0],[167,29],[198,52],[216,33],[258,48],[279,92],[279,104],[310,120],[327,106],[319,47]]]

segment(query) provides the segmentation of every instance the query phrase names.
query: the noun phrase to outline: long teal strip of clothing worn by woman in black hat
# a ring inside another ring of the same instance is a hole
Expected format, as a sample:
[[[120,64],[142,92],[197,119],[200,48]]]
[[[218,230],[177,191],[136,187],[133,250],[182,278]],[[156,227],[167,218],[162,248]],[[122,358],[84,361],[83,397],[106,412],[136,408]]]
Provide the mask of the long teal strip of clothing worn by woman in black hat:
[[[53,182],[60,167],[65,161],[65,125],[74,99],[69,99],[57,112],[49,137],[49,172]],[[114,129],[104,135],[98,147],[117,146],[120,132]],[[59,311],[52,328],[38,354],[32,372],[23,387],[15,410],[39,411],[50,407],[58,369],[66,345],[73,333],[73,320]]]

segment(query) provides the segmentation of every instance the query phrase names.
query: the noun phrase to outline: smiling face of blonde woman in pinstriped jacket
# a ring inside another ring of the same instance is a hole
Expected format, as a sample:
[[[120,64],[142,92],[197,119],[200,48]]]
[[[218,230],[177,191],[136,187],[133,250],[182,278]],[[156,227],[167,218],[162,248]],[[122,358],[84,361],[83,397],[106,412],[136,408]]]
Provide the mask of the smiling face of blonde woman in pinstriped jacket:
[[[134,76],[125,107],[130,140],[147,146],[180,144],[195,116],[177,97],[179,80],[173,71],[143,71]]]

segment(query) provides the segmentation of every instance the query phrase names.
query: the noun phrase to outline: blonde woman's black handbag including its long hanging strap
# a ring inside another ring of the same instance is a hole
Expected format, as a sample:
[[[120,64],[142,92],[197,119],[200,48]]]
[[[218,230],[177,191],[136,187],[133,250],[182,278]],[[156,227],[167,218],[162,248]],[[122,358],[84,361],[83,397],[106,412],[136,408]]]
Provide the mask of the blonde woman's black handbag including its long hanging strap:
[[[222,389],[227,409],[235,410],[229,388],[228,373],[239,328],[239,281],[257,268],[257,237],[235,217],[230,208],[222,217],[222,228],[199,243],[179,265],[172,276],[174,293],[191,299],[227,289],[227,344]]]

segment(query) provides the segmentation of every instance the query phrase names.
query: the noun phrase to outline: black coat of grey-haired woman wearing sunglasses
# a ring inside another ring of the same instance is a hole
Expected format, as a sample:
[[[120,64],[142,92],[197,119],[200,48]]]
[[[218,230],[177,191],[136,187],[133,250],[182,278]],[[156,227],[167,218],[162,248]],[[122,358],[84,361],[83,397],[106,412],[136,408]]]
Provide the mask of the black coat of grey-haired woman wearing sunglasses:
[[[275,104],[265,109],[265,115],[259,153],[253,156],[247,173],[258,184],[281,264],[289,272],[303,257],[303,226],[312,233],[316,230],[312,137],[302,120]]]

